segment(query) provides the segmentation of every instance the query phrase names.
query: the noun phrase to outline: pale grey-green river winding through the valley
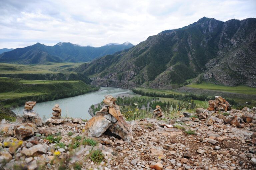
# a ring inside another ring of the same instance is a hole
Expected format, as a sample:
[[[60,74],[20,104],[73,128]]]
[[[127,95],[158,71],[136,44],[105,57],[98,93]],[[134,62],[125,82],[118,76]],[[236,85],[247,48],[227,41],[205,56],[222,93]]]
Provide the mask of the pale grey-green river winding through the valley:
[[[90,119],[91,115],[88,110],[92,104],[100,103],[105,97],[105,95],[116,96],[118,94],[134,94],[132,91],[122,88],[113,87],[100,87],[100,90],[86,93],[83,95],[78,95],[74,97],[62,98],[53,101],[46,101],[37,103],[34,110],[43,119],[52,116],[52,108],[55,104],[59,104],[62,110],[61,116],[68,117],[80,117],[82,119]],[[12,111],[16,114],[22,114],[22,109],[24,106],[13,109]]]

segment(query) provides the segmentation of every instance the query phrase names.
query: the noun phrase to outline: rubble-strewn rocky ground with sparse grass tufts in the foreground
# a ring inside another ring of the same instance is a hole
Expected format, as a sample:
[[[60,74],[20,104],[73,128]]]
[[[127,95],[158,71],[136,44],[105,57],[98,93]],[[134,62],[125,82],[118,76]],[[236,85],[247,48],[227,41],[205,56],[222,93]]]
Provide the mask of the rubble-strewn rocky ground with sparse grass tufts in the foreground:
[[[82,121],[31,125],[27,137],[16,134],[18,123],[3,120],[0,169],[256,169],[255,110],[197,112],[129,121],[129,141],[89,137]]]

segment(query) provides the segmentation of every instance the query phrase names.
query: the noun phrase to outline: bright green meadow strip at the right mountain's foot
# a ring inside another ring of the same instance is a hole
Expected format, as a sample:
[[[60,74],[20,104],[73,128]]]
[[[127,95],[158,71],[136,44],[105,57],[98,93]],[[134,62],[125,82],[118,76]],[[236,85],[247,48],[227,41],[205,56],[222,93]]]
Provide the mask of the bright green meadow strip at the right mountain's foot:
[[[210,83],[202,83],[202,84],[190,84],[190,85],[186,85],[186,86],[193,87],[193,88],[208,89],[208,90],[227,91],[227,92],[232,92],[232,93],[256,94],[256,88],[248,87],[245,85],[230,87],[230,86],[224,86],[224,85],[214,85],[214,84],[210,84]]]

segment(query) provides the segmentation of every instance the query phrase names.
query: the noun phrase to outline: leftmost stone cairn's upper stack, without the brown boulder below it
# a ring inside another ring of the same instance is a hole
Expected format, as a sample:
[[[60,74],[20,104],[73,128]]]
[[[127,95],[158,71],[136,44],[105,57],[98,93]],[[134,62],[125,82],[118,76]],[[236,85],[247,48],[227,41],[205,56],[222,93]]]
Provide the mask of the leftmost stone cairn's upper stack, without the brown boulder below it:
[[[36,126],[42,126],[43,122],[41,117],[33,110],[36,101],[26,101],[23,109],[23,115],[18,115],[16,118],[17,123],[34,123]]]

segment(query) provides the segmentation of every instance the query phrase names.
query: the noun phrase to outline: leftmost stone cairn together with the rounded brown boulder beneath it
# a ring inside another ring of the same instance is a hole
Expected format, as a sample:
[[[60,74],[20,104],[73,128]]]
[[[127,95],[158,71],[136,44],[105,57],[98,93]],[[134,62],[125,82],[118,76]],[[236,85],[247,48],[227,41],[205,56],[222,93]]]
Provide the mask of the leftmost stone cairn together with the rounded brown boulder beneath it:
[[[27,137],[33,136],[38,132],[38,126],[42,126],[41,117],[33,110],[36,101],[26,101],[23,109],[23,115],[18,115],[16,118],[16,125],[14,127],[15,134],[18,139],[24,140]]]

